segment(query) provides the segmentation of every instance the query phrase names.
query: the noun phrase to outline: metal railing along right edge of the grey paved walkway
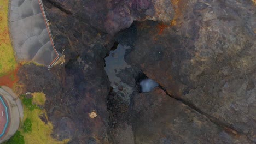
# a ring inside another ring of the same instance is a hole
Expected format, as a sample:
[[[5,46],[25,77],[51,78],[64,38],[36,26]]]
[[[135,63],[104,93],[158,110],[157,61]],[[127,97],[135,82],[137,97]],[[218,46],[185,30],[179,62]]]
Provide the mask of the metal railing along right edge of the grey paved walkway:
[[[49,67],[48,67],[48,68],[51,68],[58,61],[58,59],[60,58],[60,55],[57,52],[57,50],[55,49],[55,45],[54,45],[54,41],[53,41],[53,34],[51,34],[51,29],[50,29],[50,26],[49,26],[48,19],[47,19],[46,15],[45,15],[45,11],[44,11],[44,6],[43,6],[43,3],[42,3],[42,0],[38,0],[38,2],[39,2],[39,5],[40,5],[40,9],[42,11],[42,14],[43,14],[43,18],[44,18],[44,22],[45,22],[46,28],[48,30],[48,34],[49,34],[49,37],[50,37],[51,45],[53,45],[54,52],[57,55],[57,57],[55,57],[53,62],[51,62]]]

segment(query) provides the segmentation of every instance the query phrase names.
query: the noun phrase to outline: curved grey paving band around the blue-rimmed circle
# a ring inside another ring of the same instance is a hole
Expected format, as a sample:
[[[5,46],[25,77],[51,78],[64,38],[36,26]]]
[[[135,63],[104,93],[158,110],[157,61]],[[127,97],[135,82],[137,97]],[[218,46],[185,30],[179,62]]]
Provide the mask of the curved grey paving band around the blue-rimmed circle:
[[[9,93],[10,92],[10,93]],[[17,97],[17,95],[13,95],[14,93],[10,88],[2,86],[0,88],[0,95],[5,100],[5,104],[9,109],[9,128],[7,133],[0,139],[0,143],[10,139],[11,136],[15,134],[20,125],[20,119],[23,119],[23,108],[20,99],[13,100]],[[2,115],[2,114],[1,114]]]

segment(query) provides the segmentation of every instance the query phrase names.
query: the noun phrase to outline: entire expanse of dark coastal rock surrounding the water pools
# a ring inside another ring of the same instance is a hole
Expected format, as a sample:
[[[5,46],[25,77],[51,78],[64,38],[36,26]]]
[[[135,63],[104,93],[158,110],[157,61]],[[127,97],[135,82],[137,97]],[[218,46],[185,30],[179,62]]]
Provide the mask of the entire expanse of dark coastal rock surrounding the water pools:
[[[252,1],[171,2],[43,1],[65,61],[51,70],[23,65],[19,83],[24,93],[46,94],[53,137],[69,143],[256,142]],[[115,41],[129,47],[129,67],[113,72],[120,82],[112,85],[104,58],[118,56],[110,52]],[[147,77],[160,86],[139,93]],[[127,86],[133,92],[124,99]]]

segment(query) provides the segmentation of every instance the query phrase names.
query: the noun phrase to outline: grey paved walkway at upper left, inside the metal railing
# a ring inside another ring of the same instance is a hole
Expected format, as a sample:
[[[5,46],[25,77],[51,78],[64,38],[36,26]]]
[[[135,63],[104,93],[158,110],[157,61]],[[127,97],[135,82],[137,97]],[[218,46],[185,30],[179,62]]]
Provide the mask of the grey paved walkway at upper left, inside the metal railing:
[[[57,57],[38,0],[12,0],[10,33],[18,61],[50,65]]]

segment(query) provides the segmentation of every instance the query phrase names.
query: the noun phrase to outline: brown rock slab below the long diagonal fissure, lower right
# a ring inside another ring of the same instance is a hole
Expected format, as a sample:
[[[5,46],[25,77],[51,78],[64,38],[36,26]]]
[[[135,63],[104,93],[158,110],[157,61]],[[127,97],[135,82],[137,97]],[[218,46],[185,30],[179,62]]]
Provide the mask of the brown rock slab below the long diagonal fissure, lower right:
[[[160,88],[133,98],[135,143],[250,143],[220,129],[207,117]]]

